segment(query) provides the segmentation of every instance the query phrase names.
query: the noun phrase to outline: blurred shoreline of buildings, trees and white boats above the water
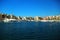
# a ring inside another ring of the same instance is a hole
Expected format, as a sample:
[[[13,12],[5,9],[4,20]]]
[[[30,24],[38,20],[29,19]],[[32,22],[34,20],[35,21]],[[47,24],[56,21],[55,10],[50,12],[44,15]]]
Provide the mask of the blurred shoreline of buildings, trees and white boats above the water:
[[[46,17],[21,17],[8,14],[0,14],[1,22],[20,22],[20,21],[34,21],[34,22],[60,22],[60,15],[57,16],[46,16]]]

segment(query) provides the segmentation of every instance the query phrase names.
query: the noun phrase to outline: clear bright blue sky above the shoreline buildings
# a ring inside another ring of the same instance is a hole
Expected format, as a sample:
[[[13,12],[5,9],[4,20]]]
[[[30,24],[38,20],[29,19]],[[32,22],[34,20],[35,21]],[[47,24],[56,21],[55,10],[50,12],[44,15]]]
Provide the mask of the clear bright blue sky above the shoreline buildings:
[[[59,15],[60,0],[0,0],[0,12],[32,17]]]

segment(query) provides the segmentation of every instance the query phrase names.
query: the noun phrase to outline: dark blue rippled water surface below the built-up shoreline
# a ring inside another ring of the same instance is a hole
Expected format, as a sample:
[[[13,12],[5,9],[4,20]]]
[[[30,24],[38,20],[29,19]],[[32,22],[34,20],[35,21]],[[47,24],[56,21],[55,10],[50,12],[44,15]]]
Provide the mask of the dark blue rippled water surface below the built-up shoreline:
[[[60,40],[60,22],[0,22],[0,40]]]

